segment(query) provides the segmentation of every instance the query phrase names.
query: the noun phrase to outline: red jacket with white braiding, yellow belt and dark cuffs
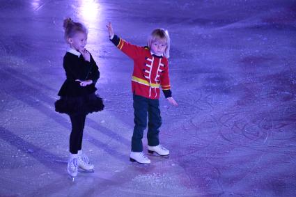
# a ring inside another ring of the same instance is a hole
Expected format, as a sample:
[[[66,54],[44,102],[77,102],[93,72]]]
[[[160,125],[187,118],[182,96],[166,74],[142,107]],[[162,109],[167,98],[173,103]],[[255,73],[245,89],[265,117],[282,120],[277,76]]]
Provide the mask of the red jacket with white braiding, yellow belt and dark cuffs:
[[[151,54],[148,47],[132,45],[116,35],[111,41],[134,60],[132,93],[150,99],[159,99],[159,86],[161,86],[165,97],[171,97],[167,58]]]

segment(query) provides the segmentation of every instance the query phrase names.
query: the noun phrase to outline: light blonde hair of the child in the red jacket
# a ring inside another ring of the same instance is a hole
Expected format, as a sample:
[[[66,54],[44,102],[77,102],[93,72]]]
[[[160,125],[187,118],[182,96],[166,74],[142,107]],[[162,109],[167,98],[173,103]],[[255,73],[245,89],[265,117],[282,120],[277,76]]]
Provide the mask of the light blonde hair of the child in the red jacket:
[[[164,50],[164,56],[169,58],[169,49],[170,49],[170,38],[169,38],[169,31],[162,28],[157,28],[152,31],[148,38],[148,47],[151,49],[151,45],[153,42],[159,40],[160,42],[165,42],[166,49]]]

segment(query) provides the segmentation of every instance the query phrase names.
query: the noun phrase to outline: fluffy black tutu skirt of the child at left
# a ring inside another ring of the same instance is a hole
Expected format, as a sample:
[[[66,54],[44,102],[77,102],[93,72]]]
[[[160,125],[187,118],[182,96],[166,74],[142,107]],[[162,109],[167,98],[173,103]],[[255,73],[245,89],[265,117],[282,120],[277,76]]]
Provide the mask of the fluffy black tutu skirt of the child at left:
[[[54,103],[56,111],[59,113],[93,113],[102,111],[104,104],[102,98],[95,93],[80,97],[61,97]]]

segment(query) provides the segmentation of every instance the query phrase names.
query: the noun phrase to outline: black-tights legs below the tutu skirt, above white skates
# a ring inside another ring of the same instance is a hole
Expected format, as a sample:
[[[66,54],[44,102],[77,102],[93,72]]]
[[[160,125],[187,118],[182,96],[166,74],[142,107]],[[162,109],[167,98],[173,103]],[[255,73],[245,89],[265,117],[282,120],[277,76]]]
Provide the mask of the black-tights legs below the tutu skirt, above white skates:
[[[83,125],[85,121],[85,115],[81,113],[75,113],[70,115],[72,124],[72,132],[70,134],[70,152],[77,154],[78,150],[81,150],[81,139],[83,133]]]

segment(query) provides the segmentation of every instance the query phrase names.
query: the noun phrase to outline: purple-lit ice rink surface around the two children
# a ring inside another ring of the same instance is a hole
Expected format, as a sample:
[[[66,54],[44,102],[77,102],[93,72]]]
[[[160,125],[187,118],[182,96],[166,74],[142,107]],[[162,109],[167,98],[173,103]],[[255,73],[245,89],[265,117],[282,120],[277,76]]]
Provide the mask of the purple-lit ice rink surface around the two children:
[[[70,120],[54,111],[65,17],[88,27],[105,103],[84,129],[95,172],[75,182]],[[2,0],[0,22],[0,196],[296,195],[296,1]],[[133,62],[107,22],[136,45],[156,27],[171,36],[179,106],[162,95],[160,141],[171,155],[148,155],[150,166],[129,161]]]

